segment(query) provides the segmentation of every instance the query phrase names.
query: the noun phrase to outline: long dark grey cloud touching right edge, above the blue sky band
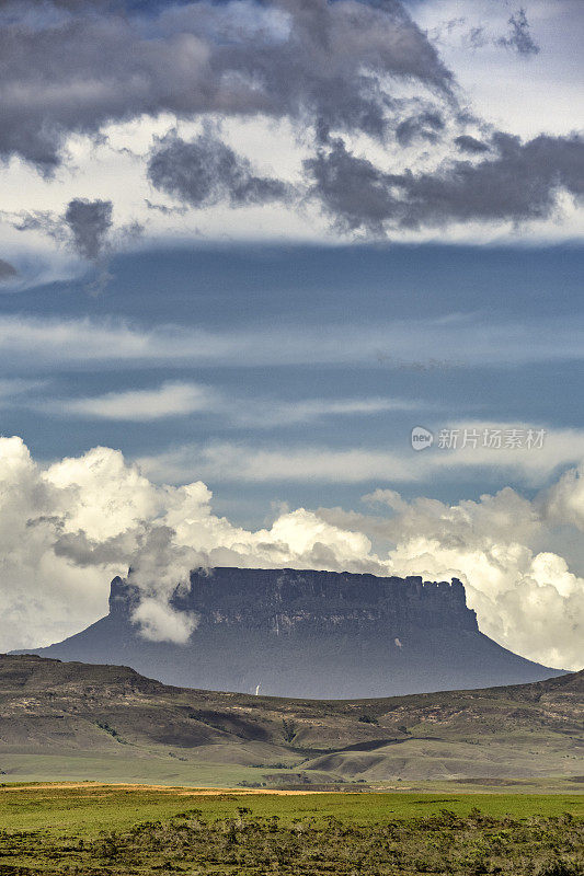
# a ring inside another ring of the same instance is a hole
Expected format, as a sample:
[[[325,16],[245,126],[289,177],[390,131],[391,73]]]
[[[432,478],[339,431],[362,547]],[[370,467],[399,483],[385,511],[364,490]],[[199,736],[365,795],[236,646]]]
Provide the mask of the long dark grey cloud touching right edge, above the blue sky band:
[[[336,139],[305,162],[312,194],[340,227],[374,232],[449,221],[520,222],[549,217],[565,191],[584,195],[584,140],[540,136],[525,143],[497,132],[493,155],[454,161],[434,173],[390,174]]]

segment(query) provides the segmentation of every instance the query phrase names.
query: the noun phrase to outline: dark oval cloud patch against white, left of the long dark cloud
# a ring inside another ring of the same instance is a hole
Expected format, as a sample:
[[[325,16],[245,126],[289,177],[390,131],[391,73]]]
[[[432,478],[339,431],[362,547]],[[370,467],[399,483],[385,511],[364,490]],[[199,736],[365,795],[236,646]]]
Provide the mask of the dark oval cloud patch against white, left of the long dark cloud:
[[[175,134],[158,140],[148,162],[152,185],[194,207],[228,201],[233,207],[285,200],[279,180],[256,176],[250,162],[210,134],[182,140]]]

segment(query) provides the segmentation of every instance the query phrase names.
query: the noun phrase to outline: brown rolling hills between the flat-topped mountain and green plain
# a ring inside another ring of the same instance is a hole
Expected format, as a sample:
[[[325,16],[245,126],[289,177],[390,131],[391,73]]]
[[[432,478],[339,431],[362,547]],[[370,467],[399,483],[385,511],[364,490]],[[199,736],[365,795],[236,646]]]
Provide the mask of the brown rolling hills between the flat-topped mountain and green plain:
[[[28,774],[62,777],[50,759],[66,757],[75,764],[69,777],[153,781],[171,764],[178,784],[220,784],[222,775],[257,784],[569,776],[584,772],[583,705],[584,672],[486,690],[309,701],[2,656],[0,768],[20,777],[27,758]]]

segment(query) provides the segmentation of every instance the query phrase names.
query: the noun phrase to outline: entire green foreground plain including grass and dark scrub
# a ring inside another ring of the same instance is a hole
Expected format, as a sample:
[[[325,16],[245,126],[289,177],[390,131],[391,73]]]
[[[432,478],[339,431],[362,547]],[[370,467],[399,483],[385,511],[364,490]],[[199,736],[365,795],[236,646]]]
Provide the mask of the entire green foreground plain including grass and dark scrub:
[[[5,786],[0,874],[584,872],[584,797]]]

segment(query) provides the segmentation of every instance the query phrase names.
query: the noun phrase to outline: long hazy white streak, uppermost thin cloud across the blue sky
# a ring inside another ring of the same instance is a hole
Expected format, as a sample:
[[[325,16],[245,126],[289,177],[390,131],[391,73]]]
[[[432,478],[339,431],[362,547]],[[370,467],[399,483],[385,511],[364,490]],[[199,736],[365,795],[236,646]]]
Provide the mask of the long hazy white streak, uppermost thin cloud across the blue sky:
[[[451,358],[445,359],[445,350]],[[34,358],[32,354],[34,353]],[[100,362],[210,365],[365,364],[387,368],[502,368],[581,361],[584,322],[577,316],[490,320],[484,314],[392,322],[289,325],[265,331],[209,331],[167,323],[145,327],[123,319],[0,315],[0,361],[11,368],[67,368]]]

